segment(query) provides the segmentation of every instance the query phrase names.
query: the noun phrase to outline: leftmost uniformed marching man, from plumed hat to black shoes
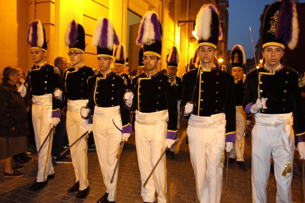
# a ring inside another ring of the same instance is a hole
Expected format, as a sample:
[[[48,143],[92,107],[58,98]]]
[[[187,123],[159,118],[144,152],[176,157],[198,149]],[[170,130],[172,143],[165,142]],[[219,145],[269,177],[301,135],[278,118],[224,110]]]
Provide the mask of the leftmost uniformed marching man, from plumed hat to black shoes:
[[[59,88],[59,69],[45,62],[47,43],[45,28],[39,20],[34,20],[29,27],[27,42],[31,44],[32,59],[35,62],[29,72],[28,89],[32,95],[32,121],[37,150],[53,126],[60,121],[59,103],[53,97],[55,88]],[[48,184],[48,179],[55,176],[52,165],[53,132],[46,140],[38,155],[37,180],[29,190],[39,190]]]

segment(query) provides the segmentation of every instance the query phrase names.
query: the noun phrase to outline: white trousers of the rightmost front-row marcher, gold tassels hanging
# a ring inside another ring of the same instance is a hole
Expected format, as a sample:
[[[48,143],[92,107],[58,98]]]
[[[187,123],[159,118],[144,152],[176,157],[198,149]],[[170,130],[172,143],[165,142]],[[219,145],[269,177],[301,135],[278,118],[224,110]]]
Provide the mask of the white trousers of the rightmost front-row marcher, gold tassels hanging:
[[[252,130],[252,194],[253,202],[267,202],[267,181],[270,174],[271,153],[276,179],[276,202],[290,203],[292,173],[282,176],[288,160],[293,167],[294,133],[292,113],[255,114]]]

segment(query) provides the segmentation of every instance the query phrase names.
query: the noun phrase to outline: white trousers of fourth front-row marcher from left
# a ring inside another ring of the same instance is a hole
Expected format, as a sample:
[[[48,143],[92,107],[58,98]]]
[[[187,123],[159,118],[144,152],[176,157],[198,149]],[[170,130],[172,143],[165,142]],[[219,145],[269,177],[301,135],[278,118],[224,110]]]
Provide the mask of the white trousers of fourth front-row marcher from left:
[[[167,133],[168,111],[153,113],[135,113],[135,145],[138,165],[141,174],[141,195],[143,201],[154,202],[155,191],[158,193],[158,203],[166,201],[166,160],[161,159],[146,186],[143,187],[153,166],[157,163],[164,150]]]

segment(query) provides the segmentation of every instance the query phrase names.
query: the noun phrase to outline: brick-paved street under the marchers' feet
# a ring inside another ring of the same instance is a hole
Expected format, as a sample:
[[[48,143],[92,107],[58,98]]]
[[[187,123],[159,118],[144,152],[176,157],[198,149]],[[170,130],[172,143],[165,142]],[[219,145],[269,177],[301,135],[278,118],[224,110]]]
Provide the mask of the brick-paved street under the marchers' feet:
[[[250,131],[249,131],[249,135]],[[194,173],[189,159],[188,145],[185,142],[186,130],[181,128],[181,141],[178,143],[174,159],[167,157],[167,195],[171,203],[191,203],[196,200]],[[226,167],[223,173],[223,192],[221,202],[251,202],[251,137],[246,137],[245,163],[246,170],[236,165],[229,166],[228,194],[225,194]],[[31,155],[32,156],[32,155]],[[34,156],[32,156],[34,157]],[[296,152],[292,179],[292,200],[303,202],[301,162]],[[54,159],[53,159],[54,160]],[[37,175],[38,164],[30,161],[21,170],[21,178],[4,178],[4,162],[0,161],[0,202],[96,202],[106,191],[95,151],[88,152],[88,180],[90,193],[86,199],[76,200],[76,192],[67,193],[75,181],[72,164],[56,164],[55,178],[48,182],[44,190],[31,192],[28,187]],[[226,166],[226,164],[225,164]],[[299,166],[296,168],[295,166]],[[141,203],[141,181],[135,149],[135,138],[132,135],[125,144],[121,157],[117,203]],[[276,182],[270,174],[267,187],[268,203],[275,202]]]

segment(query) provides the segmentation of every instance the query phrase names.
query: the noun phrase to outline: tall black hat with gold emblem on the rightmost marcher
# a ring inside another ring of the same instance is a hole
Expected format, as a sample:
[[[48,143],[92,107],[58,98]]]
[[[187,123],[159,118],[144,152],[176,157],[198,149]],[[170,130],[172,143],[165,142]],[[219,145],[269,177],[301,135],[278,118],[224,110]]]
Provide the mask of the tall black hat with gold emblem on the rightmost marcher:
[[[299,23],[296,5],[291,0],[273,2],[267,9],[263,24],[263,48],[287,45],[293,50],[299,38]]]

